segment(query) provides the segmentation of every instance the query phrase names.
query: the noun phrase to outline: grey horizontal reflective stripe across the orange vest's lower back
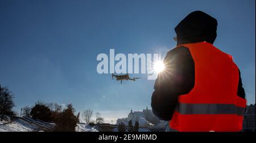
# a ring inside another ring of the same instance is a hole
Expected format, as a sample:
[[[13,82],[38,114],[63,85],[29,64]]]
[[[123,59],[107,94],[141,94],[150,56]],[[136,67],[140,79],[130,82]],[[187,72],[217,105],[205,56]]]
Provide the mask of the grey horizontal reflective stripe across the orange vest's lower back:
[[[189,104],[179,103],[176,111],[180,114],[237,114],[242,116],[245,108],[234,104]]]

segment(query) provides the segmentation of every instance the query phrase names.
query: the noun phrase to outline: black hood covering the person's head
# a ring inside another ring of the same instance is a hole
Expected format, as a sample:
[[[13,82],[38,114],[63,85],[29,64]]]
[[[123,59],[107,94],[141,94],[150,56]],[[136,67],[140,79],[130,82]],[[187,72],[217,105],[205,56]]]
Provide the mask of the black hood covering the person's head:
[[[217,37],[217,20],[203,11],[194,11],[175,27],[177,45],[207,41]]]

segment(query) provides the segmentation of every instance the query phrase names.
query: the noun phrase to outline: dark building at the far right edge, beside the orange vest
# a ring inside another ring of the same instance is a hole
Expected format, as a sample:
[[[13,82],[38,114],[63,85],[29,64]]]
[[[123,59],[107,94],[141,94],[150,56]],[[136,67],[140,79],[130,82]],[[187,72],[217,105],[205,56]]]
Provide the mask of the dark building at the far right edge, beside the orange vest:
[[[243,131],[255,132],[255,104],[246,106],[243,116]]]

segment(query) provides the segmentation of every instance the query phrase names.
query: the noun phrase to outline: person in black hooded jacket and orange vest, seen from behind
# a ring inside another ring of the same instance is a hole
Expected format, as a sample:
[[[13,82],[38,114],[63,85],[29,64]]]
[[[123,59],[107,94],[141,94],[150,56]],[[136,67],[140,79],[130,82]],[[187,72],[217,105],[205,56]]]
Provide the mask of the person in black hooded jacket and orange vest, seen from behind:
[[[151,106],[167,131],[241,131],[246,107],[240,71],[212,44],[217,20],[194,11],[175,27],[177,47],[170,50],[152,93]]]

